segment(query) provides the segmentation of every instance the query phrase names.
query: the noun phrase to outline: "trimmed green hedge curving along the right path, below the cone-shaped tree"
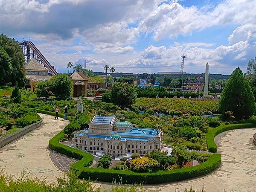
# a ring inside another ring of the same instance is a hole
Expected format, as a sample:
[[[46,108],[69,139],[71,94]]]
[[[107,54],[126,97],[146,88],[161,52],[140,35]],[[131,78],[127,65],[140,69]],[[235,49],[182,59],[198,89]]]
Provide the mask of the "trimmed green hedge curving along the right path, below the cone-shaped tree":
[[[212,153],[217,152],[217,145],[214,143],[214,137],[224,131],[229,131],[232,129],[240,129],[240,128],[251,128],[255,127],[255,124],[252,123],[243,123],[243,124],[236,124],[236,125],[221,125],[217,128],[212,129],[207,133],[207,147],[208,151]]]

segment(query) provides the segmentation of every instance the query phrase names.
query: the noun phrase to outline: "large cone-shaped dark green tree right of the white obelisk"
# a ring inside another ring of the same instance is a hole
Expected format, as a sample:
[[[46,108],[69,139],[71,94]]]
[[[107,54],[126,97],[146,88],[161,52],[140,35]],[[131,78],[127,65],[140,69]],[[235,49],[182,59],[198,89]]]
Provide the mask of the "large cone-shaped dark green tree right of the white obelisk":
[[[251,116],[254,111],[254,96],[249,81],[239,67],[233,71],[219,101],[219,112],[231,111],[236,119]]]

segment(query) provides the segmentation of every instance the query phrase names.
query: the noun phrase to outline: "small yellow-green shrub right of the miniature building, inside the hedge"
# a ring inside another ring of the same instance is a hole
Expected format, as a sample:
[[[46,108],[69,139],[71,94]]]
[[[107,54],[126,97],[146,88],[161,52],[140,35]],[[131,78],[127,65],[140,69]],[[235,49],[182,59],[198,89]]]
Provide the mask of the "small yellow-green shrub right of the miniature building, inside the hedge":
[[[173,146],[172,155],[175,157],[175,161],[180,168],[190,159],[189,153],[186,151],[184,145],[180,144]]]

